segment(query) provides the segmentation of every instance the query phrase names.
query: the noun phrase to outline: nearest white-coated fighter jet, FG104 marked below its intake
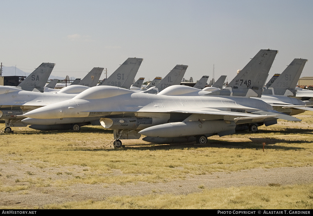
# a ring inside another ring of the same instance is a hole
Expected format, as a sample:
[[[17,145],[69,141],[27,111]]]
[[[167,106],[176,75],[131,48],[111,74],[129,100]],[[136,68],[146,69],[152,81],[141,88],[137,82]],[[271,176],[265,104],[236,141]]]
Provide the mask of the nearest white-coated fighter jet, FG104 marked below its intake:
[[[253,61],[262,66],[256,67],[270,68],[276,53],[276,50],[261,50]],[[250,67],[254,69],[255,64]],[[255,83],[246,82],[246,87],[252,89],[248,86]],[[258,95],[253,92],[248,90],[246,94]],[[236,94],[236,88],[232,94]],[[278,118],[300,121],[249,97],[154,95],[109,86],[92,87],[73,99],[22,116],[45,120],[98,117],[103,127],[114,129],[116,146],[121,145],[121,139],[139,139],[141,134],[146,135],[144,140],[153,143],[196,141],[205,144],[209,136],[235,133],[236,124],[271,122]]]

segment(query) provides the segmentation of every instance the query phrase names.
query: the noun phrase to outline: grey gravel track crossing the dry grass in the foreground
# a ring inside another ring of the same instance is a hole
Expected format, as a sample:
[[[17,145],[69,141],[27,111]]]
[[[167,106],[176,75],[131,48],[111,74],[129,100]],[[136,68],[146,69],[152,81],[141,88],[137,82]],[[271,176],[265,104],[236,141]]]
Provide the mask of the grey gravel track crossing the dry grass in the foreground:
[[[2,173],[5,170],[2,171]],[[201,192],[204,188],[267,186],[274,184],[305,184],[313,182],[313,167],[280,167],[251,169],[237,172],[214,172],[206,175],[187,176],[184,180],[166,183],[75,184],[67,187],[36,187],[23,191],[0,192],[0,206],[39,206],[70,201],[103,200],[110,196],[143,196],[150,193],[188,194]]]

